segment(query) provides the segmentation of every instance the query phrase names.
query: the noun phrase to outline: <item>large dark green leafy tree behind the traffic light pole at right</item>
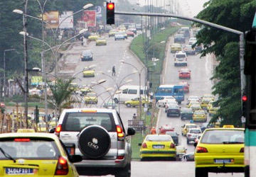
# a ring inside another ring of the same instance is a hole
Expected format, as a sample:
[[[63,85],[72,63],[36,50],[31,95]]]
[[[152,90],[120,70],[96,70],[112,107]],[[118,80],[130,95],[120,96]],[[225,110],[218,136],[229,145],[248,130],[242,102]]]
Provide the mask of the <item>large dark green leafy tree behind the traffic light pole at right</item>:
[[[204,4],[204,7],[196,18],[245,32],[252,25],[256,2],[253,0],[210,0]],[[196,35],[198,39],[196,44],[202,43],[204,46],[201,56],[213,53],[219,61],[211,79],[219,80],[213,86],[213,94],[219,96],[217,103],[220,105],[220,110],[211,122],[215,122],[220,117],[223,120],[222,124],[240,125],[242,114],[239,36],[202,24],[196,25],[205,27]]]

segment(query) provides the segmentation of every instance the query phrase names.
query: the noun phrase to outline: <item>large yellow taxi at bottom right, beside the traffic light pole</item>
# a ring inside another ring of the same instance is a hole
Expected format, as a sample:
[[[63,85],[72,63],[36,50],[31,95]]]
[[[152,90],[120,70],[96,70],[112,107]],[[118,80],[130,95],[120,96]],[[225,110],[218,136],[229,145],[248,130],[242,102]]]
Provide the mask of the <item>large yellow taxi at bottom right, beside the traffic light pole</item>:
[[[194,145],[196,176],[208,176],[208,172],[244,172],[243,128],[206,129]]]

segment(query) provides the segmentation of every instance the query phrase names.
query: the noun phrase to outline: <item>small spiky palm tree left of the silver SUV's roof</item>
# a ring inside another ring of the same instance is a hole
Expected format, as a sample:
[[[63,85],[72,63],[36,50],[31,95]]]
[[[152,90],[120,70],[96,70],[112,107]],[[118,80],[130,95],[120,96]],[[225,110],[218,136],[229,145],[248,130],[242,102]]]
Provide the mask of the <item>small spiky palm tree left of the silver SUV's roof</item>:
[[[72,98],[73,89],[70,89],[70,83],[74,78],[68,80],[57,78],[55,83],[48,83],[52,96],[49,97],[49,103],[57,108],[58,115],[60,115],[63,108],[70,108],[75,99]]]

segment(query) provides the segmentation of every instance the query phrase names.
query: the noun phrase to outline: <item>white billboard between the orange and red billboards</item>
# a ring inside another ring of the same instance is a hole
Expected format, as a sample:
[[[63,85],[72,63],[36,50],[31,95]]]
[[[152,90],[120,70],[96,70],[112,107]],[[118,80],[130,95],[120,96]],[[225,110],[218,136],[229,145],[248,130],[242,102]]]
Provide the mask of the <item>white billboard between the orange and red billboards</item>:
[[[63,11],[63,14],[60,15],[59,17],[59,28],[73,28],[74,23],[73,23],[73,11]]]

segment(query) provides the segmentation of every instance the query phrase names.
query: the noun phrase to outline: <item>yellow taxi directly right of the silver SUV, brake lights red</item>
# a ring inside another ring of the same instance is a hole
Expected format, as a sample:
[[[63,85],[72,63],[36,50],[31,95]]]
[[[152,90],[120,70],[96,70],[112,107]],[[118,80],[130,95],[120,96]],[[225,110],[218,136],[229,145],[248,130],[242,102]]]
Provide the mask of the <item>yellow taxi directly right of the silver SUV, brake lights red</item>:
[[[176,160],[176,147],[170,135],[146,135],[139,143],[140,159],[166,158]]]

